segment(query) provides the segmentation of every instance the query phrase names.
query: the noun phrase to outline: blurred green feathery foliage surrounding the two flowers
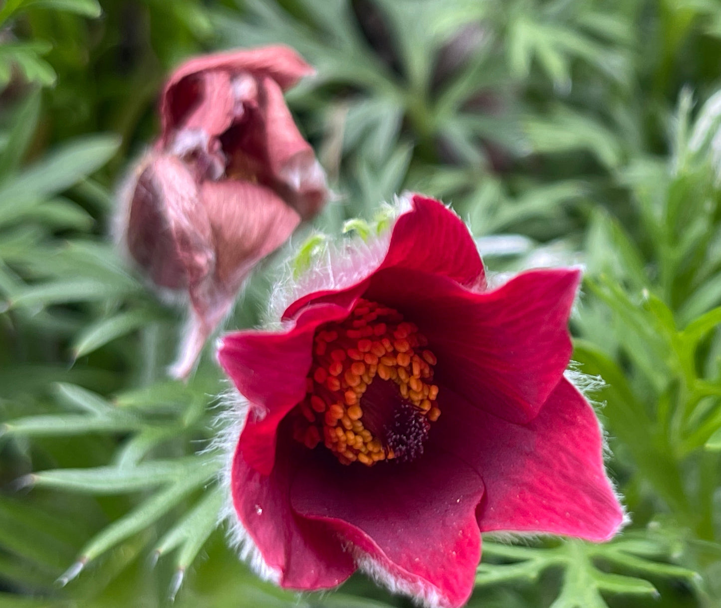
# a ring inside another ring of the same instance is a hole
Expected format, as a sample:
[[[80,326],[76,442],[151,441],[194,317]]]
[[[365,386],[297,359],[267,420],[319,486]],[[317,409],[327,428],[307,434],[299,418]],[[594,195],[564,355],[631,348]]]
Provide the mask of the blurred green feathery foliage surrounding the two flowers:
[[[168,71],[278,42],[318,71],[288,102],[340,198],[319,231],[414,189],[491,272],[585,264],[574,360],[606,381],[590,397],[632,524],[486,539],[469,605],[721,606],[718,1],[5,0],[0,607],[412,605],[363,576],[279,591],[226,548],[212,453],[192,455],[228,385],[210,348],[167,380],[183,311],[108,236]],[[280,259],[228,328],[260,321]]]

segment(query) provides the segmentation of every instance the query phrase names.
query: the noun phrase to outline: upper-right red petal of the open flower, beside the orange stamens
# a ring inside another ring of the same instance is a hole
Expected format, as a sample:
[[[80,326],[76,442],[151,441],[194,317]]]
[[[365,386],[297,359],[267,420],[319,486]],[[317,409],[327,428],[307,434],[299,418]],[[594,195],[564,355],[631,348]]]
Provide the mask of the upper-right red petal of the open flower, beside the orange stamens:
[[[571,356],[567,323],[580,272],[524,272],[490,292],[443,277],[383,271],[365,298],[416,323],[438,358],[435,379],[496,416],[526,422],[563,375]]]

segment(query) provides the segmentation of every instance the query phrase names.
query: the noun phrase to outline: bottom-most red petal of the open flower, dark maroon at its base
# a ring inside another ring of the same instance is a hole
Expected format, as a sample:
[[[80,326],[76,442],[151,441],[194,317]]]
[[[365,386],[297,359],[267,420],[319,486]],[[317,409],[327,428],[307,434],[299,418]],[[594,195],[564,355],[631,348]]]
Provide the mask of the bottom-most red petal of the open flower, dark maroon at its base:
[[[464,604],[481,553],[479,475],[440,451],[371,469],[317,455],[326,459],[322,465],[300,468],[293,479],[293,510],[337,529],[392,577],[392,586],[426,598],[438,594],[442,606]]]

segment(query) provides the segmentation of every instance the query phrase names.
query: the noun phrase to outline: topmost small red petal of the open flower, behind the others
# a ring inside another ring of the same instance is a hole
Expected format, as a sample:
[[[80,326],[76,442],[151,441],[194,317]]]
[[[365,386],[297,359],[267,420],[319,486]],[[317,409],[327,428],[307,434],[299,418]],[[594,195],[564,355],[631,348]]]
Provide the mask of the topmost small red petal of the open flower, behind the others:
[[[396,221],[379,269],[420,270],[483,289],[483,262],[461,218],[432,198],[413,195],[412,205]]]

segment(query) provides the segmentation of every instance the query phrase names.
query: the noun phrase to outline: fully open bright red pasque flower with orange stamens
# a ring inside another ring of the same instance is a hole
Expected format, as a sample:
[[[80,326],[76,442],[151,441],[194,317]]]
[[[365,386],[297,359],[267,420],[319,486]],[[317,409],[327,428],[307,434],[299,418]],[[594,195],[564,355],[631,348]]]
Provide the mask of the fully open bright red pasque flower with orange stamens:
[[[491,289],[464,223],[418,195],[385,238],[337,253],[280,328],[218,353],[248,402],[229,511],[260,571],[324,589],[362,568],[459,607],[482,532],[613,536],[601,429],[564,375],[578,269]]]

